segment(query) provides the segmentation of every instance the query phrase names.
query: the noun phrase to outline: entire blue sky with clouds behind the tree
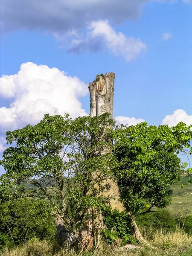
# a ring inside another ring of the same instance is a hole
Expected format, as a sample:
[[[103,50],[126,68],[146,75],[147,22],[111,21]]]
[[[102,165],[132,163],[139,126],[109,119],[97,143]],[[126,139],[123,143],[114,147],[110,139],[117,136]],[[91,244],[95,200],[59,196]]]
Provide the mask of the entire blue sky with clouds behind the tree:
[[[120,123],[192,124],[192,0],[1,0],[0,12],[0,157],[8,130],[89,114],[100,73],[116,74]]]

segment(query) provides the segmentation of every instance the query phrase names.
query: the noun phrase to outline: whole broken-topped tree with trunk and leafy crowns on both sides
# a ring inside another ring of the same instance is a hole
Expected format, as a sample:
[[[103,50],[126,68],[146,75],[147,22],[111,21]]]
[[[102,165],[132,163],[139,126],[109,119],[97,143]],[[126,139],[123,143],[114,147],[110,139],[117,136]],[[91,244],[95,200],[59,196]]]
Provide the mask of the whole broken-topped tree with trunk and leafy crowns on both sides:
[[[6,170],[0,177],[1,198],[49,201],[58,237],[68,248],[98,246],[106,206],[119,212],[126,208],[136,238],[145,242],[135,216],[170,202],[167,185],[180,170],[176,154],[191,151],[191,126],[183,123],[116,126],[114,76],[101,74],[89,84],[90,116],[72,120],[47,114],[37,125],[6,133],[15,146],[0,161]]]

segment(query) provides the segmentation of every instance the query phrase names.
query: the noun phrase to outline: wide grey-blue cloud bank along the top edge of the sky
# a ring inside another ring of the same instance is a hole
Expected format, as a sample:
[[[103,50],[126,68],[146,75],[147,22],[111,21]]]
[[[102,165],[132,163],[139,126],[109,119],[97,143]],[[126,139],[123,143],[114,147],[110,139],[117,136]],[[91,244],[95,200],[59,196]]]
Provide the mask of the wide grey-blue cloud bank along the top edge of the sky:
[[[143,4],[149,2],[151,0],[1,0],[1,29],[60,33],[83,28],[99,19],[116,24],[137,18]]]

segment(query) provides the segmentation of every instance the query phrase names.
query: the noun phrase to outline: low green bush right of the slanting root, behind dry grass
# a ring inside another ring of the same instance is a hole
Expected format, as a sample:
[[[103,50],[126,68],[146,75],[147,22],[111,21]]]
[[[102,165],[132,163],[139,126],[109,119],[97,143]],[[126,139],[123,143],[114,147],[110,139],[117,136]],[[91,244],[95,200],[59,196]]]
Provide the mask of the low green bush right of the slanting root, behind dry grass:
[[[162,228],[166,232],[175,231],[177,226],[175,219],[172,218],[166,209],[139,215],[135,221],[138,226],[144,229],[153,227],[156,230],[160,230]]]

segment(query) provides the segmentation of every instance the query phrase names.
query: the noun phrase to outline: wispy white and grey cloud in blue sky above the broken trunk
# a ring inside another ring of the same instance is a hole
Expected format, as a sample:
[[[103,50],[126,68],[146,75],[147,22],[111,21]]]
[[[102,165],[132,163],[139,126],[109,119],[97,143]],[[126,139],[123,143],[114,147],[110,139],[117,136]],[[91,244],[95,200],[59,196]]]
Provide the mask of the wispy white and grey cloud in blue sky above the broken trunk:
[[[126,61],[134,60],[146,50],[146,45],[140,39],[116,32],[109,25],[108,20],[99,20],[88,26],[85,39],[76,37],[72,40],[73,47],[69,52],[97,51],[102,48],[102,44],[113,55],[122,56]]]

